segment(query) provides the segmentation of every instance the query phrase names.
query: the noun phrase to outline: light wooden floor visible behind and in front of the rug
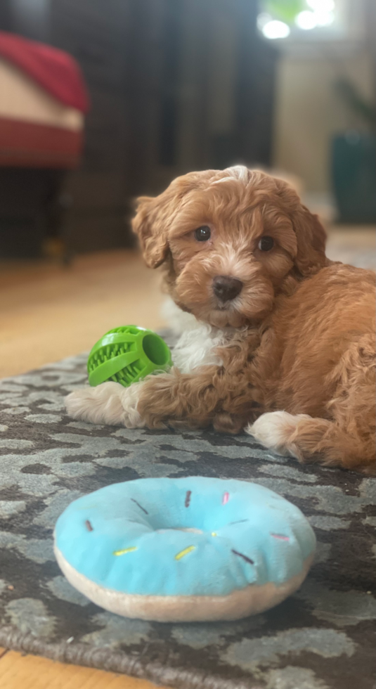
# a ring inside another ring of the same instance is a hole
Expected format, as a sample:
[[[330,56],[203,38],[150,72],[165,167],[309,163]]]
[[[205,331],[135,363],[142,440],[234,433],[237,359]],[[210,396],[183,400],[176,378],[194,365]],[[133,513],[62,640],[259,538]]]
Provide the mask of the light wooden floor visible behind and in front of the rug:
[[[332,228],[331,259],[375,267],[373,228]],[[57,264],[0,264],[0,378],[91,349],[106,330],[156,329],[162,297],[135,252]],[[0,649],[1,689],[150,689],[148,682]]]

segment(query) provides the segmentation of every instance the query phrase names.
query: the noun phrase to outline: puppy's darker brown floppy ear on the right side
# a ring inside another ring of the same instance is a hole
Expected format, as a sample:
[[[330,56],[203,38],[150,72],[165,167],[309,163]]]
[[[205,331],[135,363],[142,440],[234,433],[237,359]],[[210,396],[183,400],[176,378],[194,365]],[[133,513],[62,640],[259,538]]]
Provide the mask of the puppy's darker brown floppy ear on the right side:
[[[318,216],[300,204],[292,214],[292,224],[297,235],[295,263],[299,273],[309,276],[328,263],[325,257],[326,232]]]

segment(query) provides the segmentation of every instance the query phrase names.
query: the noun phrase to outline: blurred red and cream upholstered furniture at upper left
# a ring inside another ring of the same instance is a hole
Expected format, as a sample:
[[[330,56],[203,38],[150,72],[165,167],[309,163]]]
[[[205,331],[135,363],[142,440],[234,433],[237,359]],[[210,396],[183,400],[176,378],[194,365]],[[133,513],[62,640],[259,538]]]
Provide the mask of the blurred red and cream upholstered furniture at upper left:
[[[77,167],[88,107],[67,53],[0,32],[0,166]]]

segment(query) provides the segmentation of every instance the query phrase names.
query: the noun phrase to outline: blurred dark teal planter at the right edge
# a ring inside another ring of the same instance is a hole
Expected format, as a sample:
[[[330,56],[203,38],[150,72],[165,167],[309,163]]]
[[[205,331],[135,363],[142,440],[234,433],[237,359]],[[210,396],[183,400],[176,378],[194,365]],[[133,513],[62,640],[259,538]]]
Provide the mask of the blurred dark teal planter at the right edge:
[[[334,137],[332,186],[338,222],[376,222],[376,136],[352,130]]]

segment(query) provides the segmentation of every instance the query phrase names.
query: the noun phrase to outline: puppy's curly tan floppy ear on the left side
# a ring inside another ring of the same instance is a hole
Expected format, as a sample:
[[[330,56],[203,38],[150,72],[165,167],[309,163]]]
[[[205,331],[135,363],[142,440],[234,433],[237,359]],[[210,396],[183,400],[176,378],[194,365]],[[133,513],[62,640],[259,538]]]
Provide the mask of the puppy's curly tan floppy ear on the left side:
[[[171,222],[187,191],[196,186],[196,177],[197,173],[177,177],[159,196],[138,198],[132,229],[138,235],[143,258],[149,268],[157,268],[167,258]]]

